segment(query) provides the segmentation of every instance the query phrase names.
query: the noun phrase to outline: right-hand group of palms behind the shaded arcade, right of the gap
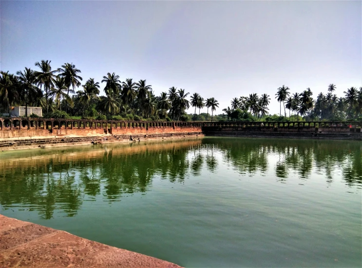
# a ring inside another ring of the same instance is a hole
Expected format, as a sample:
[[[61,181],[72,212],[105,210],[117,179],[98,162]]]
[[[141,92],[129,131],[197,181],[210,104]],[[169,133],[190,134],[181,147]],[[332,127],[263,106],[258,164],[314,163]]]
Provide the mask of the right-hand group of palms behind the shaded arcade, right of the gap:
[[[245,111],[249,111],[255,119],[261,120],[362,120],[362,87],[357,89],[351,87],[343,91],[344,96],[338,97],[333,92],[336,90],[336,85],[330,84],[327,88],[327,93],[319,93],[317,99],[314,100],[313,92],[307,88],[301,93],[290,93],[290,89],[283,85],[277,89],[275,98],[280,105],[279,117],[267,116],[270,103],[270,96],[262,94],[260,97],[256,94],[250,94],[248,97],[241,96],[231,100],[231,108],[224,108],[227,118],[237,119],[238,116],[244,116]],[[282,104],[284,115],[282,111]],[[289,110],[289,115],[286,114],[286,109]],[[244,113],[242,112],[244,111]],[[290,115],[290,112],[294,115]],[[300,118],[300,117],[301,118]],[[244,116],[245,117],[245,116]],[[244,119],[249,119],[245,117]]]

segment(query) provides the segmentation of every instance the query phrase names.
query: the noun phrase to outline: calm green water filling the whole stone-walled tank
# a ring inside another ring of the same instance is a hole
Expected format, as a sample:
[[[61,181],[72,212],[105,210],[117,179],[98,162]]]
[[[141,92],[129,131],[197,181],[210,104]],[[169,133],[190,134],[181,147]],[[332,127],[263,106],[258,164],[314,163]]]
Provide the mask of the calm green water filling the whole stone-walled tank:
[[[1,214],[184,267],[361,267],[361,197],[358,141],[0,153]]]

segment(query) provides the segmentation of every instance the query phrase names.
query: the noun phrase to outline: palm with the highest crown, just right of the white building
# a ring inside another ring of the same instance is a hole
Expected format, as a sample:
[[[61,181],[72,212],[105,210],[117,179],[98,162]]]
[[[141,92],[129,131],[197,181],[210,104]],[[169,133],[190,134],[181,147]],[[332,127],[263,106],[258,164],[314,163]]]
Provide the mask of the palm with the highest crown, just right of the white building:
[[[45,100],[46,100],[46,112],[48,112],[48,91],[54,87],[54,73],[57,70],[52,71],[52,67],[50,66],[51,60],[42,60],[41,62],[36,62],[35,66],[40,68],[40,71],[36,71],[35,75],[37,76],[37,84],[40,86],[44,86],[45,89]]]

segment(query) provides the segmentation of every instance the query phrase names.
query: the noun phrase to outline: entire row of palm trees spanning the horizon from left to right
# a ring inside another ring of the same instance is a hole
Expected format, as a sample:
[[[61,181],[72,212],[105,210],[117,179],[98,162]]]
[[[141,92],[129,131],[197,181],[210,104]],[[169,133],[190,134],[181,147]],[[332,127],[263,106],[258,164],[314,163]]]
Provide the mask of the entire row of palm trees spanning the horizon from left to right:
[[[25,68],[16,74],[0,72],[0,111],[10,113],[11,107],[19,105],[42,107],[44,117],[53,118],[212,121],[213,112],[219,107],[214,97],[204,99],[199,93],[193,93],[188,100],[190,92],[175,87],[155,96],[152,85],[146,80],[135,82],[127,78],[121,81],[114,72],[103,76],[101,83],[106,84],[103,89],[105,96],[99,96],[99,82],[89,78],[82,84],[81,71],[73,63],[64,63],[53,70],[50,60],[42,60],[36,62],[35,67],[38,70]],[[336,86],[330,84],[327,93],[319,93],[314,100],[310,88],[291,94],[290,89],[283,85],[275,94],[280,104],[279,117],[269,115],[268,94],[258,96],[252,93],[233,98],[231,108],[223,109],[224,118],[218,116],[217,120],[362,120],[362,87],[359,90],[355,87],[346,89],[343,97],[334,94],[335,90]],[[195,108],[193,115],[186,113],[190,107]],[[206,116],[200,115],[204,107],[208,108]],[[288,116],[286,109],[289,110]],[[27,109],[25,116],[30,116]]]

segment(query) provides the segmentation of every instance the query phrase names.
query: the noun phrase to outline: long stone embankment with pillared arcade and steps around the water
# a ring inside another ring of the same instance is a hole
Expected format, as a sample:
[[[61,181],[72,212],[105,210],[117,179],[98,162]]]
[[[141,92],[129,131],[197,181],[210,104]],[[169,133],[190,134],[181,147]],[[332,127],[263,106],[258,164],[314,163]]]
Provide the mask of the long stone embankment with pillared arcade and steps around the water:
[[[125,122],[0,118],[0,126],[1,151],[204,135],[362,140],[362,122]]]

